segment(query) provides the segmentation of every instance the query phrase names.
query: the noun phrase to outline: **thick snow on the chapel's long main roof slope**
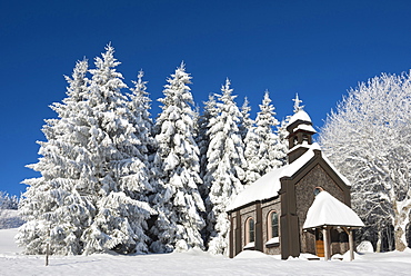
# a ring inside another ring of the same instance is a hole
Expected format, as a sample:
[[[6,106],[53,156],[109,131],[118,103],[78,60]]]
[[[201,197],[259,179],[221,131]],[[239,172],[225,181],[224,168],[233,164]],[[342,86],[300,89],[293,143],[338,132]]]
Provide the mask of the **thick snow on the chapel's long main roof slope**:
[[[317,142],[313,145],[307,145],[307,147],[309,147],[309,150],[292,164],[285,165],[263,175],[255,183],[242,190],[229,205],[227,210],[233,210],[250,203],[278,196],[281,188],[280,178],[293,176],[300,168],[302,168],[302,166],[304,166],[309,160],[311,160],[312,157],[314,157],[313,150],[320,149],[320,146]]]

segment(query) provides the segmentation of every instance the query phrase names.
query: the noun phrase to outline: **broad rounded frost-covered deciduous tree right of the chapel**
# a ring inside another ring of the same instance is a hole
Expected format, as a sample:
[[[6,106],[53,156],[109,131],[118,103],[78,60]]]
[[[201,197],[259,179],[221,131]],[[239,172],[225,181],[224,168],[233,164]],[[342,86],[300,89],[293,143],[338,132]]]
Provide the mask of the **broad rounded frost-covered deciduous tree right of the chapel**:
[[[361,239],[371,239],[378,249],[383,240],[384,249],[410,246],[410,73],[361,82],[320,134],[323,151],[352,184],[352,207],[365,223]]]

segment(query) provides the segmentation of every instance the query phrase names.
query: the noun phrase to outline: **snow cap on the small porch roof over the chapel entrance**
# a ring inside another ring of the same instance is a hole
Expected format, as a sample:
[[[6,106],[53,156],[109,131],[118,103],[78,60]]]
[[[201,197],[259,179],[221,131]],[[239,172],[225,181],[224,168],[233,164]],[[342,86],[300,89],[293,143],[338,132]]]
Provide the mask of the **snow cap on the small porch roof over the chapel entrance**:
[[[302,228],[315,228],[324,225],[364,226],[359,216],[350,207],[323,190],[315,196],[314,201],[307,213],[307,219]]]

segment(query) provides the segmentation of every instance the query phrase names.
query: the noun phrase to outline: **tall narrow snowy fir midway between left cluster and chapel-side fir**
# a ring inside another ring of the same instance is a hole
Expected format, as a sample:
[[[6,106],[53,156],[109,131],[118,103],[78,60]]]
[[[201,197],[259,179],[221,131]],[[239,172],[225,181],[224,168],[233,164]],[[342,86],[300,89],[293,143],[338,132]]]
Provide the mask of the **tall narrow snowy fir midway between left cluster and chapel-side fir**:
[[[206,210],[198,186],[201,185],[199,147],[194,140],[193,98],[191,77],[184,63],[164,86],[162,112],[156,121],[159,168],[159,190],[153,198],[159,217],[152,228],[157,236],[154,252],[203,248],[201,229],[206,226],[201,213]]]

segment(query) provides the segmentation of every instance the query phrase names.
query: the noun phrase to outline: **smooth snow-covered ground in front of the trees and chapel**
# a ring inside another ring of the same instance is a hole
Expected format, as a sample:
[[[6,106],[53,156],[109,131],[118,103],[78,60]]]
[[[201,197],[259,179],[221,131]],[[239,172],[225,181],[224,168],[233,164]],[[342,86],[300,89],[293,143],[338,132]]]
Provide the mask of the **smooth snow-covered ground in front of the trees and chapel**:
[[[411,275],[411,249],[403,253],[367,253],[344,260],[280,260],[258,252],[233,259],[200,250],[150,255],[44,256],[21,255],[13,236],[0,230],[0,275]]]

